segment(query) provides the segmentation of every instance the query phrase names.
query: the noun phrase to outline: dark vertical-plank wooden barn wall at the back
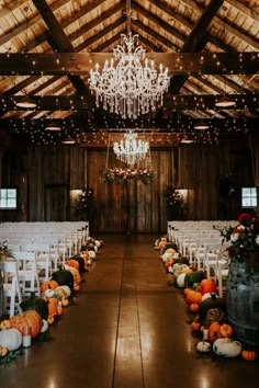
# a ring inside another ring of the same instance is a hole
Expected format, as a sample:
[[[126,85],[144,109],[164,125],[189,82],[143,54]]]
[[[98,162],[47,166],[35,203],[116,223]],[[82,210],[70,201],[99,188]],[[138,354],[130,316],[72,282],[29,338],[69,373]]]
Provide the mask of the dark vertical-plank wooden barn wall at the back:
[[[151,149],[156,180],[103,182],[106,167],[120,166],[112,151],[77,145],[30,147],[20,168],[12,153],[2,152],[2,186],[20,190],[18,212],[2,212],[1,220],[76,220],[74,190],[93,190],[91,225],[97,232],[159,232],[167,226],[165,189],[187,189],[185,219],[236,218],[240,212],[240,187],[258,185],[258,149],[244,139],[217,145],[181,145]],[[15,170],[15,171],[14,171]],[[222,204],[219,182],[230,174],[234,194]]]

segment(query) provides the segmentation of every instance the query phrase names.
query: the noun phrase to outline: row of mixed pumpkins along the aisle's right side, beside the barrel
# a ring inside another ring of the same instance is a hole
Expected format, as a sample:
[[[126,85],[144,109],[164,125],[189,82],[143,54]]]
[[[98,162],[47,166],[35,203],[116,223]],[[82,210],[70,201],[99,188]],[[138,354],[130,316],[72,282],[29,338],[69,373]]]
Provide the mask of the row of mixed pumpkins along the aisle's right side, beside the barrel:
[[[257,350],[238,341],[235,331],[227,320],[225,297],[219,297],[217,286],[206,278],[204,271],[198,271],[189,264],[189,260],[178,252],[178,247],[168,237],[155,241],[166,272],[170,275],[168,286],[181,290],[187,304],[188,323],[199,342],[195,351],[211,353],[221,357],[241,357],[246,361],[257,358]]]

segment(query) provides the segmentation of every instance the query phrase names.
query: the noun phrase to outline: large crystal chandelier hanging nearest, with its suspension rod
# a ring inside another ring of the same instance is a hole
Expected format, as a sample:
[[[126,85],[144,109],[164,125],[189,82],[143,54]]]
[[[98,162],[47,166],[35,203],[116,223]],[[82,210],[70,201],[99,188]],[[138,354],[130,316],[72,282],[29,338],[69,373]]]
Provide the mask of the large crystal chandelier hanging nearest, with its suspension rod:
[[[127,1],[127,22],[131,21],[131,3]],[[162,104],[162,95],[168,90],[170,77],[168,68],[146,57],[145,49],[138,46],[138,35],[133,35],[128,22],[127,35],[121,35],[121,44],[113,49],[113,57],[105,60],[100,70],[99,64],[90,70],[89,85],[95,93],[97,106],[116,113],[122,118],[136,118],[157,104]]]

